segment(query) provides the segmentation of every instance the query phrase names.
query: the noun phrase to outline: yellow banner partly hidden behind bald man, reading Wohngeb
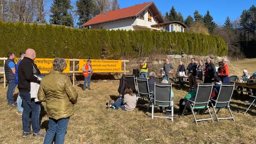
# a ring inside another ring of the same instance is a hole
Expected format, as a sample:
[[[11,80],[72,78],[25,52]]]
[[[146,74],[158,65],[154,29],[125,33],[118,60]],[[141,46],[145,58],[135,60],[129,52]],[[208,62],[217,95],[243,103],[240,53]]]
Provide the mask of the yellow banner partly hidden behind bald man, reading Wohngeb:
[[[15,58],[15,64],[20,60],[20,58]],[[34,63],[37,65],[37,68],[41,73],[49,73],[52,69],[52,63],[54,59],[44,59],[44,58],[36,58]],[[70,61],[69,59],[65,59],[67,61],[67,68],[63,71],[65,73],[69,73],[70,69]]]

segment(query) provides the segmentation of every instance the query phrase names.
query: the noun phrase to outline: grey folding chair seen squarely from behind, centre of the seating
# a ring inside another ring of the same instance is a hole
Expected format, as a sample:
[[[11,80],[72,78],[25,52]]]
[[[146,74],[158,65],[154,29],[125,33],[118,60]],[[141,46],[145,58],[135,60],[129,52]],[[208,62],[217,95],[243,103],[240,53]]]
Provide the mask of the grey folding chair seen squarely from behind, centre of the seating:
[[[151,119],[154,117],[162,117],[171,119],[174,121],[174,100],[171,97],[171,83],[155,83],[155,90],[152,102],[152,112]],[[171,111],[171,116],[156,116],[154,115],[154,106],[165,107],[165,111]],[[167,109],[167,107],[171,107],[171,110]]]

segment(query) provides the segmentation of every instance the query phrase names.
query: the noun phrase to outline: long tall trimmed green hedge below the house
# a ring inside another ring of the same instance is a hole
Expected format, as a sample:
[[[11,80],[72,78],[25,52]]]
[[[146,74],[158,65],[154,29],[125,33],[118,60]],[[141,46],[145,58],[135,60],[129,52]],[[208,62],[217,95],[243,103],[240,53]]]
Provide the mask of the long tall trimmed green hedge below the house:
[[[0,57],[35,49],[39,58],[119,59],[151,53],[227,55],[224,40],[215,35],[150,30],[78,30],[0,21]]]

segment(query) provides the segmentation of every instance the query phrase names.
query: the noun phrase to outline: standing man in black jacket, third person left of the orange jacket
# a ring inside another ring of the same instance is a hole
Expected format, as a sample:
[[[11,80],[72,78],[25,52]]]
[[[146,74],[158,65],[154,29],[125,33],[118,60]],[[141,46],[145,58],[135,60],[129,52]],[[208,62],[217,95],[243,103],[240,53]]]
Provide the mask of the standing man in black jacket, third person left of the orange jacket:
[[[195,87],[195,76],[196,76],[196,69],[197,69],[197,64],[195,63],[195,58],[191,59],[191,63],[187,67],[188,76],[189,76],[189,89],[192,90],[192,85]]]

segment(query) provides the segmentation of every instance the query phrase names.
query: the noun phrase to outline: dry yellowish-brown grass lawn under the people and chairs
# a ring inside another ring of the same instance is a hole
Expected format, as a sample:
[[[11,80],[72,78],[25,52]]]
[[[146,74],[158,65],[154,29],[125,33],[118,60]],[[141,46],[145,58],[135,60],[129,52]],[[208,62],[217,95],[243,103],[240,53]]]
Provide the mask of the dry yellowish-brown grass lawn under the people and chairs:
[[[245,59],[229,63],[231,75],[242,75],[246,68],[249,74],[255,72],[256,59]],[[78,144],[83,138],[84,144],[126,143],[126,144],[255,144],[256,137],[256,110],[245,112],[249,103],[244,102],[249,97],[244,95],[242,100],[233,100],[232,113],[236,122],[220,120],[217,122],[213,114],[212,121],[202,121],[195,125],[192,115],[178,116],[178,103],[180,98],[188,93],[188,87],[181,88],[173,85],[174,92],[174,122],[169,119],[151,119],[151,112],[146,108],[137,107],[134,111],[127,112],[121,109],[106,109],[108,99],[118,98],[119,80],[93,80],[91,91],[82,91],[83,81],[76,81],[78,103],[75,104],[75,114],[70,118],[65,144]],[[17,108],[7,105],[6,92],[0,84],[0,143],[1,144],[42,144],[43,138],[22,138],[22,120],[17,115]],[[17,97],[18,90],[15,91]],[[45,103],[41,109],[41,128],[48,129],[48,116],[44,111]],[[158,108],[158,107],[157,107]],[[151,110],[151,109],[150,109]],[[212,110],[212,109],[211,109]],[[163,113],[157,113],[163,115]],[[227,109],[219,112],[219,116],[228,116]],[[208,115],[202,115],[208,117]]]

